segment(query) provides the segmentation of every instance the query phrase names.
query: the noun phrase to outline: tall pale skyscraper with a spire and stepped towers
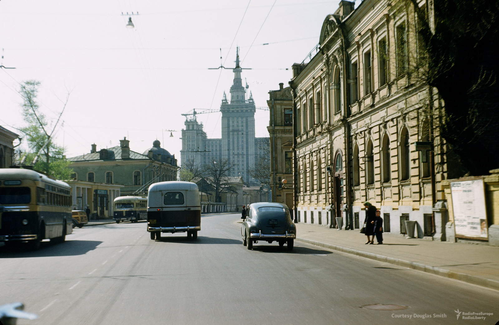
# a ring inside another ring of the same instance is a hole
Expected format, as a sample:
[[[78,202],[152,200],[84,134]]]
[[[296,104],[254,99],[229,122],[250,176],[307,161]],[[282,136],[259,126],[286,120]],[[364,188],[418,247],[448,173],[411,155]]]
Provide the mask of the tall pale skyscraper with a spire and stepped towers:
[[[245,183],[254,181],[248,173],[255,161],[255,148],[259,141],[268,138],[254,137],[255,105],[250,92],[246,99],[246,87],[243,86],[239,62],[239,49],[236,52],[234,81],[230,90],[230,101],[224,92],[220,111],[222,112],[222,139],[207,139],[203,125],[196,121],[196,116],[188,118],[186,129],[182,130],[181,163],[195,160],[196,163],[208,163],[213,159],[227,159],[235,165],[232,176],[243,177]],[[199,152],[198,151],[206,152]],[[194,152],[196,151],[196,152]],[[193,153],[194,152],[194,153]]]

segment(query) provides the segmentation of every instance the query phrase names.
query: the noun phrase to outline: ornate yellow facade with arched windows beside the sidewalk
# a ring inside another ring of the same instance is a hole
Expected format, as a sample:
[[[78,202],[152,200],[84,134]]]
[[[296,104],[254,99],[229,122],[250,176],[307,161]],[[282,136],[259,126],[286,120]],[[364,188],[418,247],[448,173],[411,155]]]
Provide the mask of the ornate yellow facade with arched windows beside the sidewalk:
[[[405,233],[404,221],[415,220],[420,237],[442,238],[432,209],[444,199],[441,181],[458,168],[434,118],[443,103],[418,78],[416,25],[407,1],[364,0],[354,9],[343,0],[319,44],[293,64],[298,221],[357,229],[369,201],[385,232]]]

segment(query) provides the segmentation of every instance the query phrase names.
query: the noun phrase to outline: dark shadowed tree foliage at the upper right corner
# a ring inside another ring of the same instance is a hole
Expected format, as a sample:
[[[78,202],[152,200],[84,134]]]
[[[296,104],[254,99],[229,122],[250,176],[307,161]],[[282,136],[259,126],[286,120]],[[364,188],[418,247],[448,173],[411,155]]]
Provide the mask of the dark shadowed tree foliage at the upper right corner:
[[[499,2],[412,3],[426,51],[426,81],[445,102],[441,135],[472,175],[499,162]]]

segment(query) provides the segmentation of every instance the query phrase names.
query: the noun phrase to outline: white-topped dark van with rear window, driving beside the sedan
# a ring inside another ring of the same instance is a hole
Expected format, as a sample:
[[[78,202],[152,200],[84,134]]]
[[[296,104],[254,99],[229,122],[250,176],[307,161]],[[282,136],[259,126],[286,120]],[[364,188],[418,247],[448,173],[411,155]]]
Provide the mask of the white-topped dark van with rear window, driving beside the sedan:
[[[162,232],[187,232],[197,239],[201,230],[201,204],[196,183],[164,181],[149,186],[147,196],[147,231],[151,239]]]

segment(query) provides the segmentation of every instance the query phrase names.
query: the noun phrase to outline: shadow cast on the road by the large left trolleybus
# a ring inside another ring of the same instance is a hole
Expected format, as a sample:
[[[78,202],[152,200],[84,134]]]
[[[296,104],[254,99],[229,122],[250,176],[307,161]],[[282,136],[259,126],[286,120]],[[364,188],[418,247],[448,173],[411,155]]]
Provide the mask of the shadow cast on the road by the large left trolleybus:
[[[102,242],[97,240],[67,240],[56,244],[42,241],[37,251],[26,251],[21,247],[0,247],[1,258],[47,257],[47,256],[74,256],[83,255],[94,250]]]

